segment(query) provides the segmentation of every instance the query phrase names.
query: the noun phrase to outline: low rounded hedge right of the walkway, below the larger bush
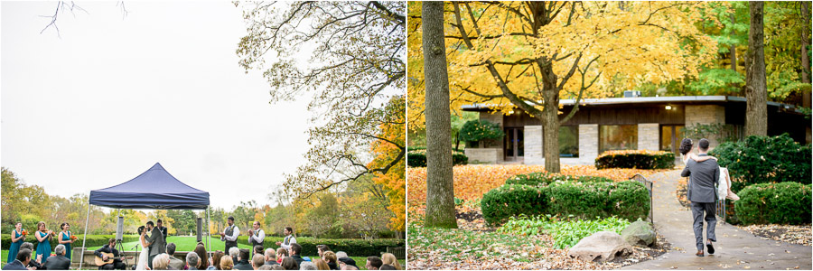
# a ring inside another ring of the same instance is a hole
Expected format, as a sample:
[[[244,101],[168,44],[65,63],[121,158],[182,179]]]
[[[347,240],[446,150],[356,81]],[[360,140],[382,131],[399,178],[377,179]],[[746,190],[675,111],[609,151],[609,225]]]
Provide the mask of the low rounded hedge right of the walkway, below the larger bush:
[[[739,192],[734,201],[743,224],[809,224],[811,188],[799,182],[758,183]]]

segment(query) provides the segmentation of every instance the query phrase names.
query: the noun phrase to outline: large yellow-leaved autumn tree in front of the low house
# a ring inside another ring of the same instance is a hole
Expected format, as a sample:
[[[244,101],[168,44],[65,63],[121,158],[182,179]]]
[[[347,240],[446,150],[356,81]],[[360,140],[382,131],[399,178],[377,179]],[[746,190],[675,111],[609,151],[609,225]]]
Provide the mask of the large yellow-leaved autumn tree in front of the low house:
[[[582,98],[606,98],[611,83],[631,89],[696,77],[716,43],[695,23],[700,2],[451,2],[444,33],[451,110],[491,105],[522,109],[545,131],[578,111]],[[421,4],[410,2],[407,26],[410,128],[424,126]],[[706,18],[707,19],[707,18]],[[575,98],[560,112],[559,98]],[[547,171],[559,172],[558,133],[545,133]]]

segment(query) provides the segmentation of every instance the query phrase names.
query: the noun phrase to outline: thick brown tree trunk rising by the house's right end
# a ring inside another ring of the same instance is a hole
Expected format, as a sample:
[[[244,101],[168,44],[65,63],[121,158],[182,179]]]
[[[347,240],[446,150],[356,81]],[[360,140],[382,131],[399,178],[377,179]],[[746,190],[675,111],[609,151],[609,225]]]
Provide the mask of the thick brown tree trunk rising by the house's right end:
[[[745,82],[745,135],[768,135],[768,85],[765,78],[765,34],[762,22],[764,2],[749,2],[751,30],[748,33],[748,65]]]

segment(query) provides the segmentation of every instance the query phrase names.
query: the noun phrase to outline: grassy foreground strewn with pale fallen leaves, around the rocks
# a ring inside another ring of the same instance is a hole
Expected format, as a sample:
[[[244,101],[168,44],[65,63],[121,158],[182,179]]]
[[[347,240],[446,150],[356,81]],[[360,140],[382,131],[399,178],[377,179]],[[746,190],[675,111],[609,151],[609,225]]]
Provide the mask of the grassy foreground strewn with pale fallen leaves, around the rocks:
[[[476,215],[458,214],[458,218]],[[545,234],[519,236],[498,233],[484,221],[458,219],[459,229],[409,228],[409,268],[449,270],[504,269],[612,269],[650,260],[668,251],[668,244],[657,248],[633,248],[632,255],[612,262],[585,262],[567,256],[567,249],[553,248],[553,239]],[[663,238],[659,237],[659,240]]]

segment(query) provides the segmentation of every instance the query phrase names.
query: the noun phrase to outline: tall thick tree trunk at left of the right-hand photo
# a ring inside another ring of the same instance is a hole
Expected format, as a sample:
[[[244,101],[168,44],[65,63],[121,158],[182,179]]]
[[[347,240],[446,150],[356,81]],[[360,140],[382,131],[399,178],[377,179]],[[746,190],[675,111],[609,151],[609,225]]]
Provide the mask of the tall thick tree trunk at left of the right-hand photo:
[[[430,228],[457,228],[452,173],[452,116],[444,42],[444,2],[424,2],[426,114],[426,216]]]

